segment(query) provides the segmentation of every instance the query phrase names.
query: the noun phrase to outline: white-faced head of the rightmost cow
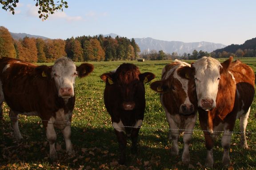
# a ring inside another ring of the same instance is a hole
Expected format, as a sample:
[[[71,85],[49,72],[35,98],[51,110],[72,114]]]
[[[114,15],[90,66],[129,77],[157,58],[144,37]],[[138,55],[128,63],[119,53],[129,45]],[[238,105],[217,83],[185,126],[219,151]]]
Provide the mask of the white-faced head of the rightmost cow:
[[[203,57],[192,64],[195,68],[196,94],[198,107],[205,111],[216,107],[216,97],[218,93],[221,74],[228,70],[232,57],[220,63],[211,57]]]

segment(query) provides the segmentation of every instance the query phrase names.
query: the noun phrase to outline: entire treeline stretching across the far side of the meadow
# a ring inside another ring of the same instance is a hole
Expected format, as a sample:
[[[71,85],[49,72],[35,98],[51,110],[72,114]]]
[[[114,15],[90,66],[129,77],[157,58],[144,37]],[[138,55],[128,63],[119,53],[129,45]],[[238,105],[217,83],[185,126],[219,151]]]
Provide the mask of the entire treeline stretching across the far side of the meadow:
[[[203,56],[213,58],[256,57],[256,38],[247,40],[242,45],[230,45],[211,53],[193,50],[192,54],[164,53],[163,50],[144,50],[134,39],[111,36],[80,36],[63,39],[28,38],[12,39],[12,35],[5,27],[0,27],[0,57],[19,58],[27,62],[54,62],[57,58],[66,56],[74,62],[85,61],[129,61],[138,58],[145,60],[196,60]]]

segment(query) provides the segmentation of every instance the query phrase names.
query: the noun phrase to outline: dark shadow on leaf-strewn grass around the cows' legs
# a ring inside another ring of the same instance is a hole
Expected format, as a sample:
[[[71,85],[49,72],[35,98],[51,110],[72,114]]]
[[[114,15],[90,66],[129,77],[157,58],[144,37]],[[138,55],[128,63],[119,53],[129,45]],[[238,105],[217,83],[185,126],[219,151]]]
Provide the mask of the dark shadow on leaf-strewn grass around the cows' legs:
[[[126,166],[118,165],[119,150],[116,135],[112,128],[72,127],[72,143],[76,154],[65,153],[63,135],[56,130],[56,150],[58,162],[49,158],[49,145],[45,130],[40,124],[22,123],[20,131],[24,139],[16,142],[9,122],[0,121],[0,169],[13,169],[15,166],[28,166],[45,169],[188,169],[181,163],[182,138],[179,139],[180,154],[170,154],[171,143],[163,131],[141,131],[138,153],[130,152],[128,140]],[[222,169],[222,149],[220,143],[214,150],[216,169]],[[236,169],[252,169],[255,166],[255,150],[242,150],[235,147],[230,152],[231,165]],[[204,139],[193,136],[190,147],[190,168],[202,169],[206,157]],[[36,166],[36,167],[35,167]],[[15,168],[14,168],[15,169]]]

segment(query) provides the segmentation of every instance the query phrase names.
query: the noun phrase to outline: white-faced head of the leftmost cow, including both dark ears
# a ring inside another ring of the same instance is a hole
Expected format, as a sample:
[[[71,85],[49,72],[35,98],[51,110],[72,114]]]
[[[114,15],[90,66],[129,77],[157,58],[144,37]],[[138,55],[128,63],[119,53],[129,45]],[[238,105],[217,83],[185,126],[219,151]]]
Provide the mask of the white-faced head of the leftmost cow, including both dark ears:
[[[54,78],[58,96],[63,99],[73,97],[76,76],[85,77],[93,70],[93,65],[83,63],[76,66],[75,63],[66,57],[58,58],[53,66],[39,66],[37,68],[42,77]]]

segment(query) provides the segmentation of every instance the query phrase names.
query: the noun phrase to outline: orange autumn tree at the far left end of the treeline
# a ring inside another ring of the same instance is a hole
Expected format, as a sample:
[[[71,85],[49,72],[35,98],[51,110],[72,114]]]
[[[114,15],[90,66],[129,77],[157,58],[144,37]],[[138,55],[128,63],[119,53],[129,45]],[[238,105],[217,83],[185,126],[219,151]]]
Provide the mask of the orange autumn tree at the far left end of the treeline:
[[[0,27],[0,57],[16,58],[12,35],[5,27]]]

